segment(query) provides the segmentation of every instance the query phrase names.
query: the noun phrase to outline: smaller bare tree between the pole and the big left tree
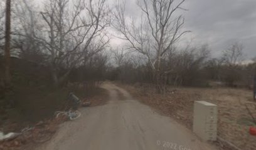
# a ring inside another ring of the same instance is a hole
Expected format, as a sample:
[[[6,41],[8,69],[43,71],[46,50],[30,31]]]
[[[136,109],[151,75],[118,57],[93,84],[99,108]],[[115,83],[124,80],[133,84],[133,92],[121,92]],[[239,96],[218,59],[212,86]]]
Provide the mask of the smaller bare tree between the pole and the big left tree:
[[[45,63],[45,54],[43,52],[42,42],[36,40],[40,36],[42,27],[40,26],[40,14],[36,13],[38,9],[33,1],[27,0],[15,1],[13,14],[15,26],[12,32],[12,47],[18,50],[18,56],[21,59],[33,61],[35,63]]]

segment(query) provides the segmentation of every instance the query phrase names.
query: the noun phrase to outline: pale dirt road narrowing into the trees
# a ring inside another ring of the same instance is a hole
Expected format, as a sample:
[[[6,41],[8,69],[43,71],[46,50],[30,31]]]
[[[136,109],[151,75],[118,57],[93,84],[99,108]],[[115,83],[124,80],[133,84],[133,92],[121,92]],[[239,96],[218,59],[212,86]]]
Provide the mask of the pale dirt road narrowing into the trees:
[[[81,109],[81,118],[61,124],[39,150],[208,150],[188,129],[160,116],[114,84],[105,83],[109,103]]]

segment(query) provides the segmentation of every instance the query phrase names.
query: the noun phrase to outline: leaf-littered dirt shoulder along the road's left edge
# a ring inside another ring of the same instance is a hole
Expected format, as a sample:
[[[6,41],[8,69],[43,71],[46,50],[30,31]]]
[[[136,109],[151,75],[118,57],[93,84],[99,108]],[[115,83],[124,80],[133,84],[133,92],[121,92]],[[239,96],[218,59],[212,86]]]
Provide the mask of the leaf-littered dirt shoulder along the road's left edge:
[[[68,89],[62,89],[61,91],[59,92],[56,92],[55,93],[50,93],[48,94],[47,96],[52,99],[52,98],[56,98],[57,96],[60,96],[60,97],[57,97],[57,98],[62,98],[62,101],[60,101],[60,103],[58,104],[55,104],[55,101],[52,101],[51,104],[52,105],[55,105],[55,106],[59,106],[59,107],[55,107],[51,109],[50,114],[48,114],[47,116],[37,116],[38,119],[36,119],[36,121],[28,121],[28,120],[24,120],[24,119],[19,119],[18,121],[15,120],[15,118],[12,118],[12,116],[8,116],[8,120],[4,122],[4,124],[2,124],[2,127],[3,128],[6,128],[8,129],[8,131],[11,131],[11,132],[15,132],[15,133],[19,133],[21,132],[21,129],[23,129],[24,127],[27,127],[27,126],[35,126],[35,131],[36,131],[36,128],[38,127],[38,124],[43,124],[44,127],[43,129],[45,129],[46,133],[50,133],[51,136],[54,136],[55,132],[58,130],[58,126],[59,124],[63,123],[64,121],[67,121],[67,119],[65,118],[55,118],[54,116],[54,113],[55,111],[61,111],[62,107],[65,107],[63,105],[65,105],[65,100],[67,100],[67,97],[65,96],[68,96],[68,93],[70,91],[73,91],[73,93],[75,93],[78,98],[80,98],[82,101],[90,101],[91,102],[91,105],[90,107],[93,107],[93,106],[100,106],[102,104],[105,104],[107,103],[107,99],[106,99],[106,96],[108,96],[107,94],[107,91],[103,88],[93,88],[91,89],[90,91],[86,91],[85,88],[83,87],[79,87],[79,86],[76,86],[73,87],[73,88],[68,88]],[[65,97],[65,98],[64,98]],[[45,99],[44,97],[41,98],[41,99]],[[38,101],[40,101],[40,99],[38,99]],[[45,101],[45,103],[50,103],[50,100],[48,99],[48,101]],[[40,103],[38,103],[40,104]],[[45,105],[44,105],[45,106]],[[38,108],[38,111],[41,111],[40,109],[40,105],[36,105],[35,106],[36,108]],[[35,108],[35,109],[36,109]],[[31,108],[29,108],[31,109]],[[16,109],[13,110],[14,112],[18,111]],[[43,111],[41,111],[41,113],[43,113]],[[24,118],[26,118],[26,116],[24,116],[24,114],[21,114],[23,115]],[[33,116],[35,116],[36,114],[32,114]],[[40,115],[40,113],[38,114]],[[30,117],[30,116],[27,116],[27,118]],[[11,126],[13,124],[13,126]],[[42,128],[38,128],[38,129],[42,129]],[[41,136],[41,135],[33,135],[33,136]],[[8,141],[0,141],[0,150],[8,150],[8,149],[14,149],[14,150],[18,150],[18,149],[35,149],[38,144],[43,144],[43,143],[35,143],[35,141],[33,141],[33,137],[31,137],[31,135],[29,136],[18,136],[17,138],[15,139],[12,139],[12,140],[8,140]]]

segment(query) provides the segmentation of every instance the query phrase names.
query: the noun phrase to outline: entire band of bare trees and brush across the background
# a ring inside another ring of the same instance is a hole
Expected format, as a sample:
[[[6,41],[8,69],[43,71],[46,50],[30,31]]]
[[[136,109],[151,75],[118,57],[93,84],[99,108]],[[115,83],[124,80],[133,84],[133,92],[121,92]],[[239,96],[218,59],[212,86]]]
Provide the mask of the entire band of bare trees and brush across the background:
[[[11,54],[48,68],[55,87],[68,81],[112,79],[149,83],[157,93],[165,93],[166,85],[252,84],[255,63],[241,64],[242,44],[232,44],[215,59],[207,44],[184,48],[176,44],[190,32],[183,27],[184,2],[138,0],[139,17],[129,17],[122,2],[110,9],[106,0],[45,0],[40,8],[28,0],[12,1]],[[4,54],[4,7],[1,1],[0,54]],[[116,37],[125,41],[122,47],[109,51],[108,29],[118,32]]]

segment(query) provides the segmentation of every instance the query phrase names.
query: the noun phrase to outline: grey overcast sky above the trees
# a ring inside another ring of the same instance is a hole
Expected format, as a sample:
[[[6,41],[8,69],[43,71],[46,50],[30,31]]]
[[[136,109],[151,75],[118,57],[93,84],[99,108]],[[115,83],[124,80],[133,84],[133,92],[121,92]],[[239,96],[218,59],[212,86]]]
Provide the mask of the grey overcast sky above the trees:
[[[129,15],[139,11],[136,0],[127,0],[126,7]],[[256,0],[186,0],[183,8],[188,9],[185,28],[192,31],[187,39],[209,44],[213,56],[233,42],[243,44],[247,59],[256,56]],[[119,42],[114,39],[111,43]]]

